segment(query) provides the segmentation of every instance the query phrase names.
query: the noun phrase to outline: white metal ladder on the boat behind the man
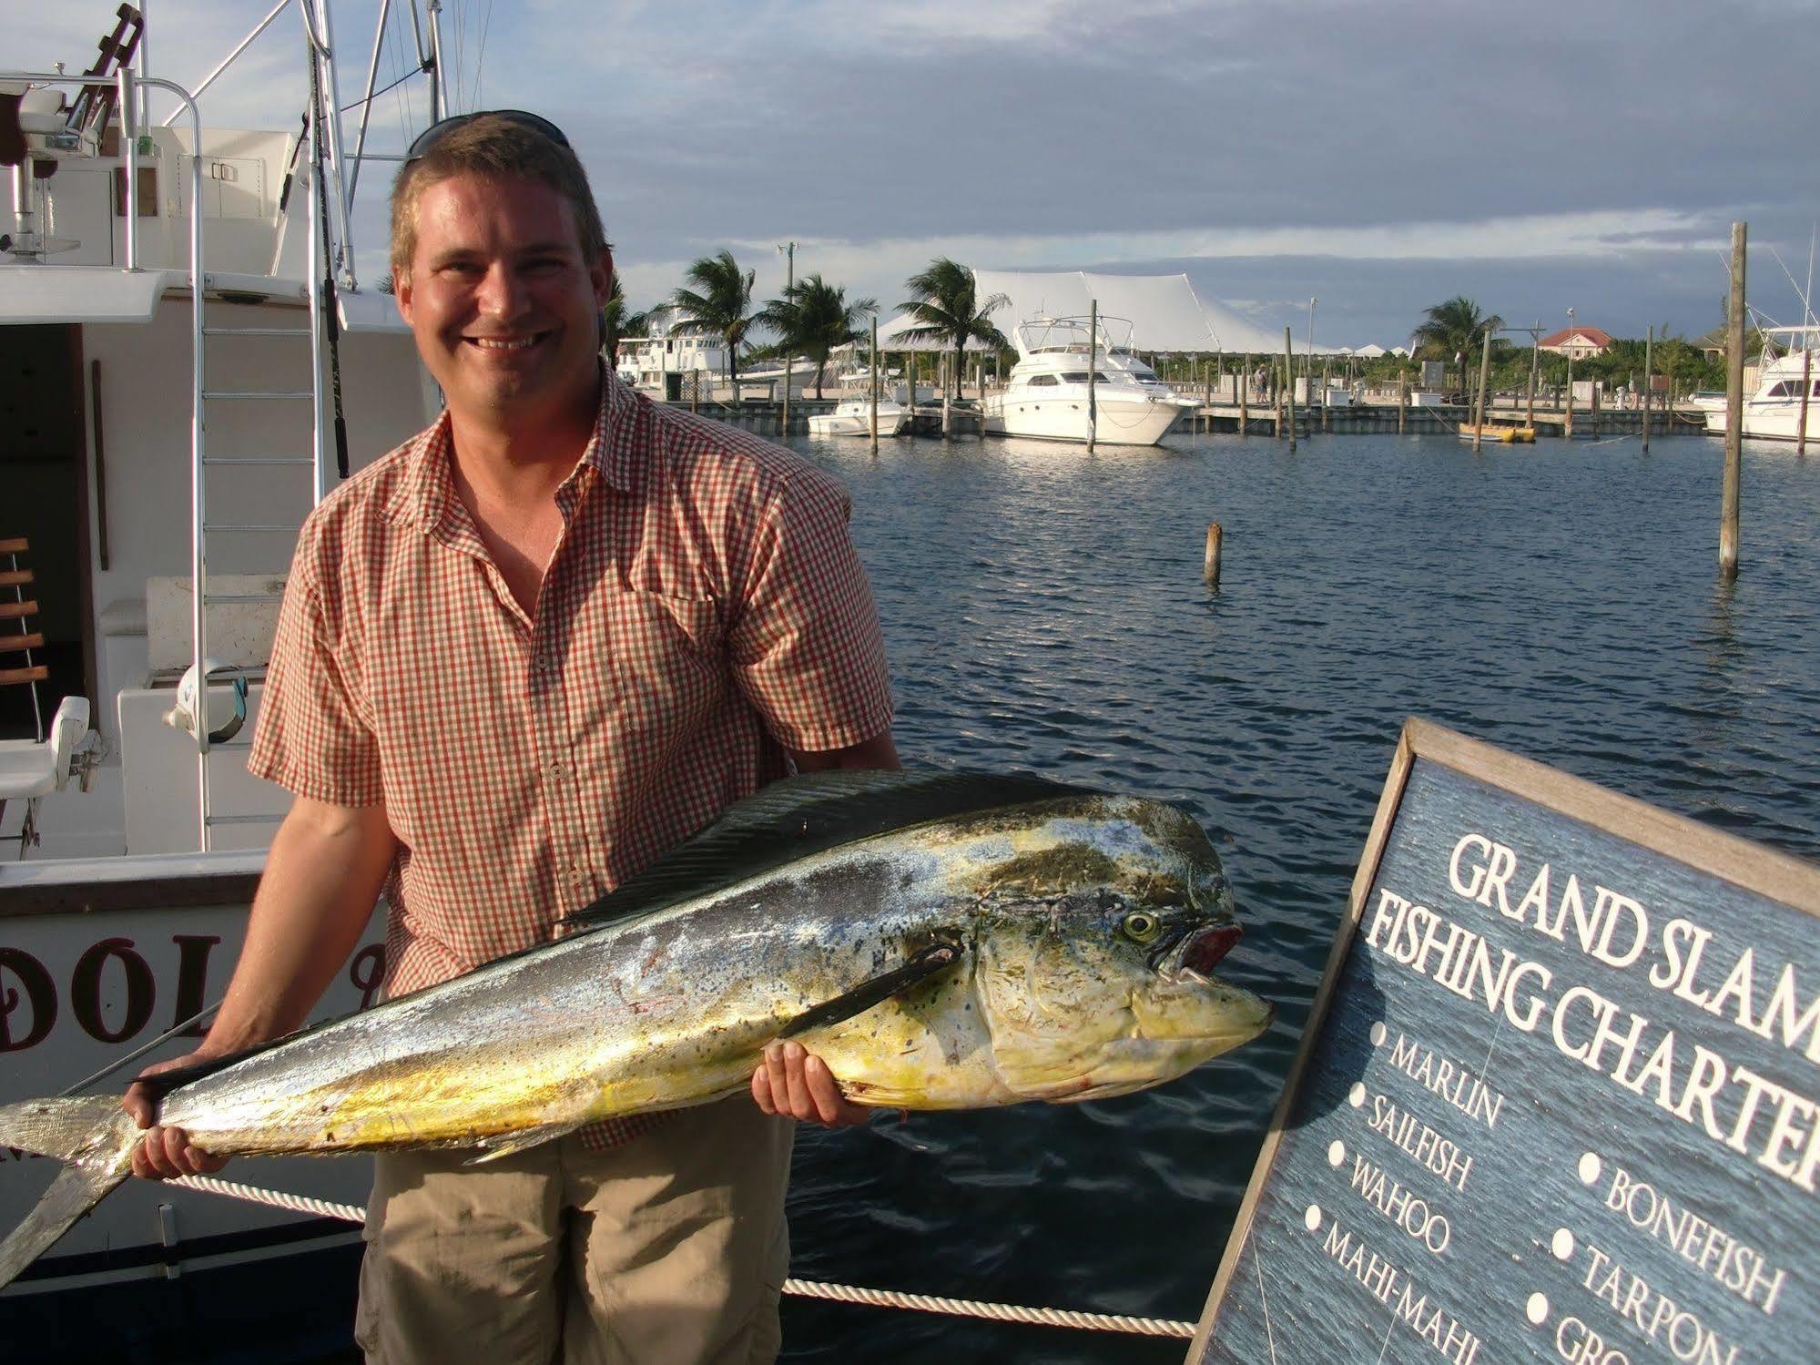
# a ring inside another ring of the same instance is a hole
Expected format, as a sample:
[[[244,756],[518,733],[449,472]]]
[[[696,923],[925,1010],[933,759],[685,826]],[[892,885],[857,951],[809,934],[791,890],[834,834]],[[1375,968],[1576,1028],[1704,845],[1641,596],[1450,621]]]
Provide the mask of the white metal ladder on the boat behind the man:
[[[318,187],[322,184],[320,175],[320,157],[322,157],[322,131],[320,126],[311,120],[309,124],[309,160],[304,175],[306,180],[306,215],[308,215],[308,278],[309,278],[309,308],[308,324],[297,328],[235,328],[235,326],[211,326],[204,318],[204,291],[207,288],[207,277],[202,278],[202,288],[195,291],[193,300],[197,308],[197,317],[202,318],[200,344],[197,348],[195,364],[195,430],[191,440],[191,664],[197,670],[197,792],[200,799],[200,846],[202,852],[209,852],[215,844],[213,832],[224,826],[235,824],[277,824],[282,815],[273,814],[238,814],[238,812],[217,812],[213,804],[211,783],[209,783],[209,750],[211,748],[249,748],[248,739],[224,739],[220,743],[211,741],[209,723],[207,723],[207,677],[204,675],[204,659],[207,657],[207,608],[231,604],[231,602],[269,602],[273,597],[269,593],[237,593],[237,592],[213,592],[209,588],[209,539],[233,535],[233,537],[258,537],[258,535],[297,535],[302,528],[302,517],[295,522],[233,522],[233,521],[215,521],[209,515],[209,471],[224,471],[244,475],[249,470],[273,468],[273,466],[309,466],[311,468],[311,506],[322,500],[322,497],[331,488],[331,468],[329,468],[329,450],[326,440],[328,431],[328,393],[324,388],[324,366],[322,366],[322,328],[324,328],[324,293],[322,293],[322,271],[324,271],[324,242],[320,233],[322,206],[318,198]],[[200,151],[200,147],[198,147]],[[255,344],[273,344],[278,339],[309,339],[309,388],[297,389],[233,389],[233,388],[215,388],[209,382],[207,366],[207,342],[211,339],[249,339]],[[207,413],[211,404],[288,404],[288,402],[309,402],[311,415],[311,450],[308,455],[246,455],[246,453],[213,453],[207,440]]]

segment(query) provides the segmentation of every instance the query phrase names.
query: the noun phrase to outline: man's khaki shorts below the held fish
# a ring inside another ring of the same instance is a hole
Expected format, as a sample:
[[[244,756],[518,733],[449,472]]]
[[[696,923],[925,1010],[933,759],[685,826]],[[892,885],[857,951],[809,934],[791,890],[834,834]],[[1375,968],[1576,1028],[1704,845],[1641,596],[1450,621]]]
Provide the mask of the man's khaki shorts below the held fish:
[[[768,1365],[794,1130],[741,1094],[604,1152],[380,1156],[355,1338],[369,1365]]]

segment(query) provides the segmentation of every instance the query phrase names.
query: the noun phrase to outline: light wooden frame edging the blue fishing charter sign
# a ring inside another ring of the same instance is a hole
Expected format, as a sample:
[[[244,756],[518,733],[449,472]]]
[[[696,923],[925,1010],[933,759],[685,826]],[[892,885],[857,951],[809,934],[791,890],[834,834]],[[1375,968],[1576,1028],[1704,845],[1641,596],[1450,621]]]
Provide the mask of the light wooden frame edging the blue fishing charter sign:
[[[1258,1201],[1269,1183],[1285,1128],[1301,1094],[1309,1061],[1321,1045],[1334,986],[1352,950],[1360,921],[1365,915],[1365,901],[1378,879],[1378,868],[1396,828],[1398,810],[1416,759],[1451,768],[1500,792],[1534,803],[1543,810],[1580,821],[1638,848],[1820,919],[1820,868],[1809,863],[1749,843],[1709,824],[1700,824],[1684,815],[1673,815],[1634,797],[1620,795],[1580,777],[1571,777],[1556,768],[1518,757],[1483,741],[1469,739],[1432,721],[1407,719],[1390,761],[1383,794],[1378,797],[1378,812],[1365,839],[1365,852],[1352,875],[1347,915],[1334,937],[1332,952],[1327,956],[1327,966],[1314,994],[1301,1045],[1290,1063],[1276,1112],[1270,1116],[1270,1128],[1265,1134],[1263,1148],[1252,1168],[1250,1185],[1245,1190],[1232,1234],[1227,1239],[1225,1256],[1219,1261],[1219,1270],[1214,1276],[1207,1305],[1201,1310],[1199,1325],[1188,1345],[1188,1365],[1201,1360],[1212,1340],[1219,1307],[1225,1301],[1232,1276],[1250,1238]]]

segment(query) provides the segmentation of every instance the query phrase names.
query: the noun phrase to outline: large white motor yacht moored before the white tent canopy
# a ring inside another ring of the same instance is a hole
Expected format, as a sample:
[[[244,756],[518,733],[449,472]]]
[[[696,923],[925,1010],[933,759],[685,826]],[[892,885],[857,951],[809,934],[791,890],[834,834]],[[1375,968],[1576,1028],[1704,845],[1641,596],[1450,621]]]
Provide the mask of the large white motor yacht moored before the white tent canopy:
[[[1125,344],[1108,340],[1114,328],[1123,328]],[[1087,318],[1017,324],[1017,364],[1005,388],[985,397],[986,431],[1083,444],[1092,431],[1096,444],[1154,446],[1187,406],[1130,353],[1128,337],[1128,322],[1105,317],[1092,342]]]

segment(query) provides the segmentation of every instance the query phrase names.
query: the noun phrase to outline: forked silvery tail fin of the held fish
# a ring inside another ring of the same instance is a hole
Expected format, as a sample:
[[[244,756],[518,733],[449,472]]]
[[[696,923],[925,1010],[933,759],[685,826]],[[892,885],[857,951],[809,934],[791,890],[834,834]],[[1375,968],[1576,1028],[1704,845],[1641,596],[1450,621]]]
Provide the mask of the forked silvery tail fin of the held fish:
[[[118,1096],[0,1105],[0,1145],[53,1156],[64,1170],[25,1221],[0,1241],[0,1289],[133,1172],[140,1128]]]

